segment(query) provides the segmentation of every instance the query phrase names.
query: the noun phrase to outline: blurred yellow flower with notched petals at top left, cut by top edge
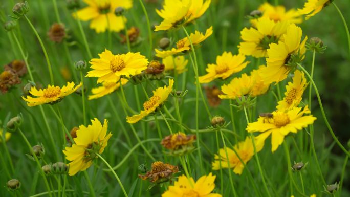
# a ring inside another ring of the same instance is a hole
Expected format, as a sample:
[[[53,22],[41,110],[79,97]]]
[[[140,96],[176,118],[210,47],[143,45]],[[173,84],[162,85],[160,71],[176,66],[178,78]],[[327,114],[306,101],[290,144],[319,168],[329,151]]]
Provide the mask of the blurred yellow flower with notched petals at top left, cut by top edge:
[[[83,0],[87,7],[73,13],[73,16],[82,21],[91,20],[90,28],[97,33],[110,31],[119,32],[124,29],[126,18],[116,16],[114,11],[118,7],[129,9],[133,6],[132,0]],[[109,26],[109,27],[108,27]]]

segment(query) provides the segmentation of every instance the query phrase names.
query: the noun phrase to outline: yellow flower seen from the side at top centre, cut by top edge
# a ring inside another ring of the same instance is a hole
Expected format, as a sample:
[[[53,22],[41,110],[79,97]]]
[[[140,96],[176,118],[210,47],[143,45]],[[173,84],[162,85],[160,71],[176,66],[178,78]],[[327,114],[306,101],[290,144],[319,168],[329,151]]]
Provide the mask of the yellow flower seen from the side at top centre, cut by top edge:
[[[211,0],[165,0],[163,9],[156,10],[164,20],[155,31],[172,30],[201,17]]]

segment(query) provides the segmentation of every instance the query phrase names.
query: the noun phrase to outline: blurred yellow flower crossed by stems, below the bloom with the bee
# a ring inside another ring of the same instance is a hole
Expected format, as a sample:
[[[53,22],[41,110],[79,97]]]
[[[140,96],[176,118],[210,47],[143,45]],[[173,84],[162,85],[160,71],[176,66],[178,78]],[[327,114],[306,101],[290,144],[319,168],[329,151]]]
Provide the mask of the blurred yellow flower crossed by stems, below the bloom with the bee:
[[[254,140],[255,140],[256,151],[259,152],[262,149],[262,147],[264,147],[265,139],[254,138]],[[245,141],[238,142],[238,144],[233,146],[233,149],[237,152],[239,158],[242,159],[244,164],[247,164],[247,162],[250,159],[252,159],[252,157],[254,156],[254,146],[253,146],[252,139],[249,136],[246,138]],[[233,168],[234,173],[242,174],[244,164],[240,162],[234,150],[227,147],[226,147],[226,150],[229,158],[228,160],[230,162],[230,168]],[[212,169],[219,170],[220,165],[221,165],[221,168],[228,168],[225,148],[221,148],[218,154],[220,154],[220,158],[218,155],[215,154],[215,161],[212,162]]]

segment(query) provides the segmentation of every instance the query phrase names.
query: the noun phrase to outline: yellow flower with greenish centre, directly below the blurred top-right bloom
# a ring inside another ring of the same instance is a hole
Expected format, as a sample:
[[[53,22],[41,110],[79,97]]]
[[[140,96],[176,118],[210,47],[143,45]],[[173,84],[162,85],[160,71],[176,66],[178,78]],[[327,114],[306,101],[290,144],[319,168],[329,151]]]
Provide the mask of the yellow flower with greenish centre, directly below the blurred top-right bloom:
[[[287,21],[275,22],[269,18],[259,18],[256,28],[244,28],[240,32],[243,42],[239,43],[239,53],[257,58],[267,57],[270,43],[282,41],[281,35],[286,33],[288,25]]]

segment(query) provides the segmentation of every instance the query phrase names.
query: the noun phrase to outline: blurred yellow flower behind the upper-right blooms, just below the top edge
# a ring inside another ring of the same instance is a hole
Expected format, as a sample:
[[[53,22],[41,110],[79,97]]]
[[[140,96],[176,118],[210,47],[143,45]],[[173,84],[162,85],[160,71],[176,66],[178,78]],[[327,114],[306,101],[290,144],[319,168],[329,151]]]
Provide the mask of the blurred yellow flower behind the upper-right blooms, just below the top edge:
[[[262,4],[259,8],[259,11],[262,12],[262,18],[270,18],[274,21],[289,21],[290,23],[300,24],[302,23],[302,18],[300,14],[295,9],[290,9],[286,11],[284,6],[272,6],[269,3]],[[256,26],[257,20],[252,19],[250,23],[253,26]]]

